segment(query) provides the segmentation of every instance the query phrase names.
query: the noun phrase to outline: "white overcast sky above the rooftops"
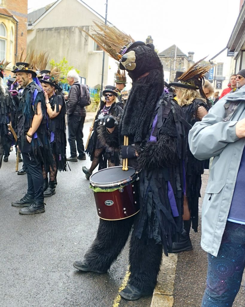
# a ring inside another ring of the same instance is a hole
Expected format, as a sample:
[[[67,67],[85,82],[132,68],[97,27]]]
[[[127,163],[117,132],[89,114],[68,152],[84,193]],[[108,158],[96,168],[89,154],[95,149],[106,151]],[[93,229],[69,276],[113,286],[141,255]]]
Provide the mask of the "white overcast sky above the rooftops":
[[[51,2],[54,0],[28,0],[28,8],[40,8]],[[105,16],[106,0],[84,2]],[[108,0],[107,19],[136,41],[145,41],[151,35],[159,52],[175,44],[186,54],[195,52],[197,61],[204,56],[210,59],[227,46],[239,14],[239,2]]]

